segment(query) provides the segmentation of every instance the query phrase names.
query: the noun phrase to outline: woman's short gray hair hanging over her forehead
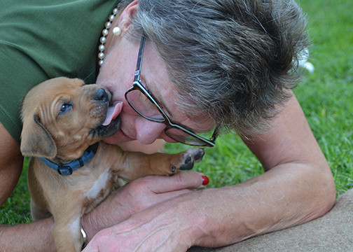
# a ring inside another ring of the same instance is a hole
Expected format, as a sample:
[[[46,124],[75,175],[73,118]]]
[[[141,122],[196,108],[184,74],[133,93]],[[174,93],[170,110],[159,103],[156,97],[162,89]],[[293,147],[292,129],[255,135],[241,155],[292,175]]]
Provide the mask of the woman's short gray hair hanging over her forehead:
[[[133,27],[164,59],[188,117],[242,135],[263,132],[289,99],[309,43],[294,0],[139,0]]]

